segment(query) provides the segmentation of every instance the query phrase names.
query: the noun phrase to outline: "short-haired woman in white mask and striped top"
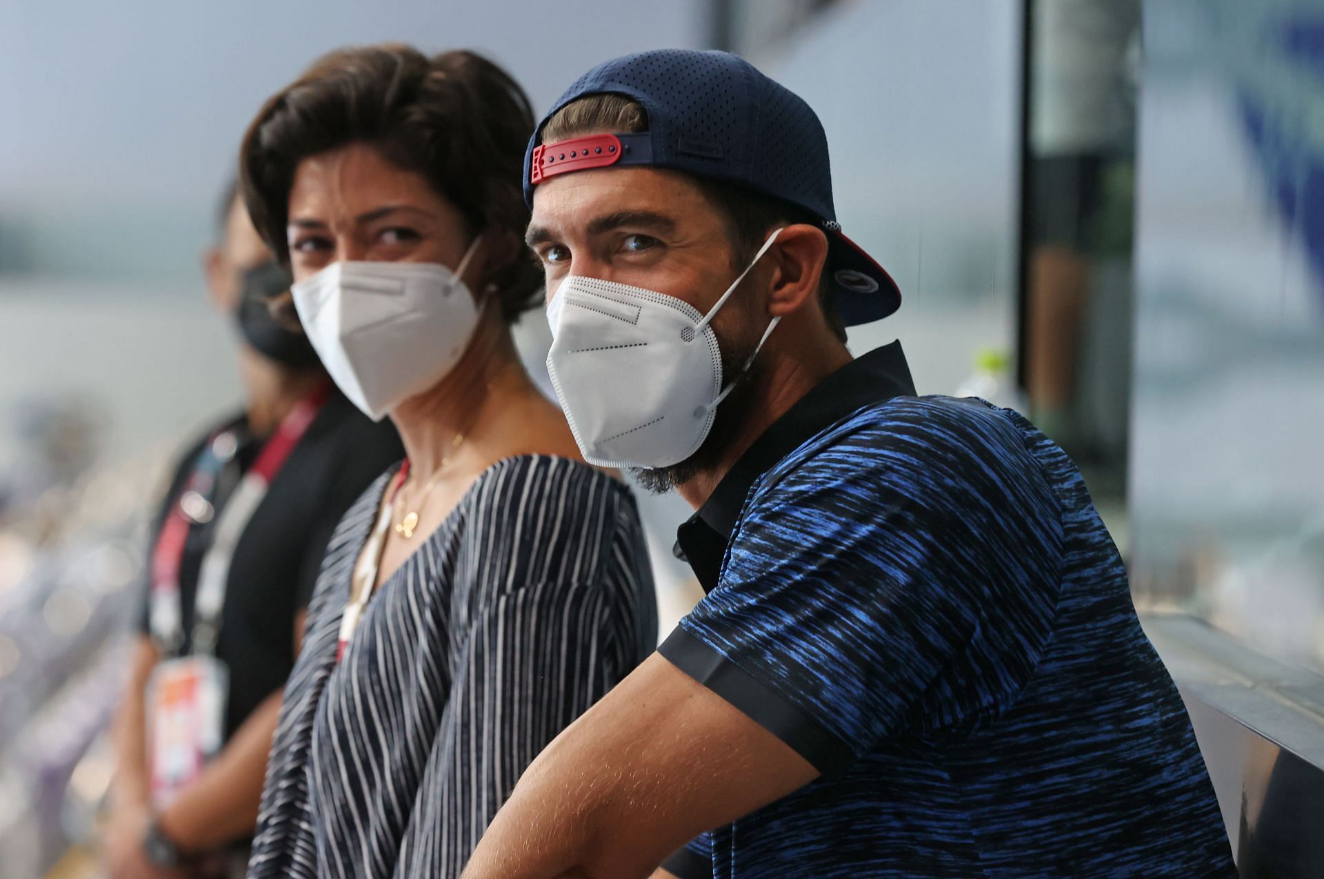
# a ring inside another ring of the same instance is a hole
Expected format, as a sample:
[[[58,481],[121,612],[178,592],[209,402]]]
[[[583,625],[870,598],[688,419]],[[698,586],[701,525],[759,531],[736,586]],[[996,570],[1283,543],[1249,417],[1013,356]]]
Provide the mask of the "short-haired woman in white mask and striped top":
[[[523,769],[655,643],[628,488],[579,455],[510,323],[539,299],[532,115],[469,52],[335,52],[242,147],[331,377],[408,454],[331,539],[253,876],[458,875]]]

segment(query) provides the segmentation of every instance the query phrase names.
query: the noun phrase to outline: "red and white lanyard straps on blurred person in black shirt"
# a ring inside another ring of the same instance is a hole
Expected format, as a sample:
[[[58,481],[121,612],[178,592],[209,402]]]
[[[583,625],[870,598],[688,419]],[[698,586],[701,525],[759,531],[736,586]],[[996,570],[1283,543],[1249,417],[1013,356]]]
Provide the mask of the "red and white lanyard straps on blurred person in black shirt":
[[[229,581],[230,561],[244,530],[257,512],[275,475],[285,466],[290,453],[303,438],[308,425],[326,402],[327,387],[322,385],[311,394],[299,400],[281,420],[275,433],[267,440],[248,473],[240,479],[230,494],[225,508],[220,512],[212,533],[211,547],[203,556],[197,575],[197,593],[193,601],[193,654],[211,654],[216,649],[220,634],[221,610],[225,605],[225,586]],[[213,442],[212,446],[216,443]],[[212,451],[209,449],[209,451]],[[214,454],[214,453],[213,453]],[[205,455],[195,470],[195,477],[207,466]],[[224,466],[224,462],[222,462]],[[193,479],[191,478],[192,483]],[[214,483],[214,477],[213,477]],[[185,491],[187,496],[188,492]],[[152,584],[152,634],[171,651],[179,649],[183,641],[183,620],[179,596],[179,569],[184,555],[184,544],[195,519],[183,504],[175,504],[171,516],[162,527],[156,543]],[[158,612],[160,608],[160,612]]]

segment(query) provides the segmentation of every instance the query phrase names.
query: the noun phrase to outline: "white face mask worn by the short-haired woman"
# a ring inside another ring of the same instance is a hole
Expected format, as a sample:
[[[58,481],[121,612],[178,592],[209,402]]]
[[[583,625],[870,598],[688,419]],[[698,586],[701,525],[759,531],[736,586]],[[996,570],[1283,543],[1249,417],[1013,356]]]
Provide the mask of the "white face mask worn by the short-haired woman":
[[[334,262],[290,290],[299,322],[340,392],[373,421],[437,384],[478,326],[461,281],[434,262]]]

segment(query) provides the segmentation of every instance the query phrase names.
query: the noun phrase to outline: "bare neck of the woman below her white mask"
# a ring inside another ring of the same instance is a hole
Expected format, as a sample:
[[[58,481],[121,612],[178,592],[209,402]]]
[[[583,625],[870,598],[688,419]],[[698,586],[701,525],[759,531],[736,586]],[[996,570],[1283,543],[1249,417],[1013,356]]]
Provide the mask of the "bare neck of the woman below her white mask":
[[[436,385],[391,412],[409,457],[410,477],[429,479],[457,447],[473,446],[530,385],[511,339],[495,308],[487,310],[469,348]]]

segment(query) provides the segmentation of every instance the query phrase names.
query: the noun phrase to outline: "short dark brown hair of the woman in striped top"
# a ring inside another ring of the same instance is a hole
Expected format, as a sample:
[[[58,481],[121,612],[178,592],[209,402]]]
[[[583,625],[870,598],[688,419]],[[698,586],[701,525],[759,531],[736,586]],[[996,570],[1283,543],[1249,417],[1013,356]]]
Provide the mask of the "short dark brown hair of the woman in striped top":
[[[528,208],[520,188],[534,114],[519,85],[473,52],[426,57],[402,44],[339,49],[271,95],[249,124],[240,181],[253,225],[286,266],[290,189],[308,156],[368,143],[425,177],[470,232],[510,238],[510,265],[491,281],[507,322],[531,307],[542,271],[523,257]]]

